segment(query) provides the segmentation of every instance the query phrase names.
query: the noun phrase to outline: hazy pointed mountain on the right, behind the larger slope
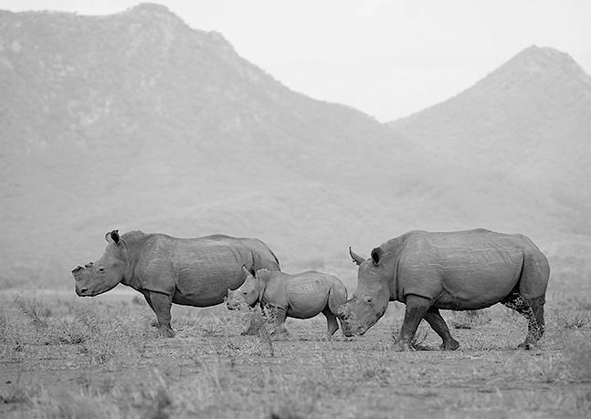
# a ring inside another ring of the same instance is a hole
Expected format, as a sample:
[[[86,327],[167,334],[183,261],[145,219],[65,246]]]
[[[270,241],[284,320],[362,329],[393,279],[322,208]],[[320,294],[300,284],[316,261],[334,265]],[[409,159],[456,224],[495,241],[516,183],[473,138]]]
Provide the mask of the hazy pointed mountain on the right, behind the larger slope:
[[[533,46],[470,89],[389,126],[450,161],[556,197],[588,234],[590,121],[591,77],[567,54]]]

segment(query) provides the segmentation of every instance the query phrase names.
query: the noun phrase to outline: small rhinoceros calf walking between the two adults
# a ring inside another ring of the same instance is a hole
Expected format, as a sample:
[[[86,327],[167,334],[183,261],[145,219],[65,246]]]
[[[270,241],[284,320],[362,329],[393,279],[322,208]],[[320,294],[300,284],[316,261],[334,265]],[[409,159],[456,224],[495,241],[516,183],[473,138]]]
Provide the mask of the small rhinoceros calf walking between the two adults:
[[[339,278],[315,270],[290,275],[259,269],[255,276],[246,267],[242,270],[247,278],[236,290],[228,288],[228,309],[237,309],[243,302],[250,307],[269,306],[277,320],[276,335],[289,335],[286,317],[311,319],[319,313],[326,317],[330,336],[339,330],[336,311],[347,300],[347,289]]]

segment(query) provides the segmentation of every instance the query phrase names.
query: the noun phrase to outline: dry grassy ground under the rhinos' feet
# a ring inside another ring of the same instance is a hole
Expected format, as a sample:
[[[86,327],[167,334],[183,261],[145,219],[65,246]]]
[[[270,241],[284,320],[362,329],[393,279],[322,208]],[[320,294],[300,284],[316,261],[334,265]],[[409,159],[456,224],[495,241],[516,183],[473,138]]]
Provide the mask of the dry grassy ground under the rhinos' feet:
[[[539,351],[515,350],[525,321],[495,306],[444,313],[458,351],[438,351],[438,336],[421,325],[421,351],[404,353],[390,350],[404,309],[397,303],[351,340],[326,339],[322,316],[288,319],[290,340],[240,336],[251,314],[221,306],[175,307],[177,337],[157,338],[153,313],[136,294],[21,291],[0,294],[0,304],[2,417],[591,414],[591,304],[584,299],[549,299]]]

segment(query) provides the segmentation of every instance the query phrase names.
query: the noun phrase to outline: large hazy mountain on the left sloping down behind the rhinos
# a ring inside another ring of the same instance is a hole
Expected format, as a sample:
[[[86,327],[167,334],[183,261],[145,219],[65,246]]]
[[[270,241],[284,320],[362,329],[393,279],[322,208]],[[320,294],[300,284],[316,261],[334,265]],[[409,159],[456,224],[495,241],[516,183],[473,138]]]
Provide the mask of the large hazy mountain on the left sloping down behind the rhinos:
[[[348,246],[411,228],[574,243],[575,204],[294,92],[161,5],[0,28],[2,287],[71,286],[113,228],[257,236],[288,271],[349,285]]]

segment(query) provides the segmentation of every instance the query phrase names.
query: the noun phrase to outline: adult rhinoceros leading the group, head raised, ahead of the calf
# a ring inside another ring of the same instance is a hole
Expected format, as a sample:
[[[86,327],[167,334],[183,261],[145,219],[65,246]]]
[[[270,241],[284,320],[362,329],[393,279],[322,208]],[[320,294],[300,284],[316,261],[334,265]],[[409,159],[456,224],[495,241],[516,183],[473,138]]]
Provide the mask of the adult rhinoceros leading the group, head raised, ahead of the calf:
[[[140,291],[156,313],[158,330],[174,337],[171,305],[207,307],[220,304],[227,288],[244,282],[242,266],[280,270],[279,260],[256,238],[206,236],[176,238],[132,231],[105,236],[109,245],[99,260],[76,267],[76,293],[93,297],[121,283]]]

